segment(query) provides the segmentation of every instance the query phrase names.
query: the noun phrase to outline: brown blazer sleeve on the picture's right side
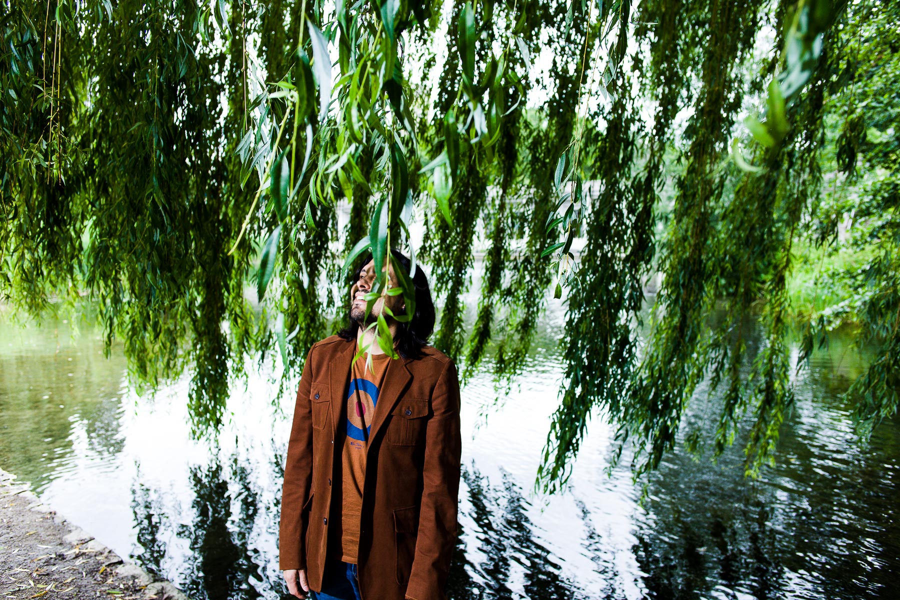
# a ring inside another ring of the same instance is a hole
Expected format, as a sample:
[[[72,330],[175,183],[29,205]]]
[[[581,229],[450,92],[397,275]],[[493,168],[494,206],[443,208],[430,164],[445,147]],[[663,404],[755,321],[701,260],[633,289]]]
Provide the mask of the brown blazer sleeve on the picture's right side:
[[[431,407],[432,416],[426,425],[416,556],[406,590],[406,596],[413,600],[445,597],[444,587],[456,542],[462,440],[459,380],[452,360],[447,361],[437,380]]]

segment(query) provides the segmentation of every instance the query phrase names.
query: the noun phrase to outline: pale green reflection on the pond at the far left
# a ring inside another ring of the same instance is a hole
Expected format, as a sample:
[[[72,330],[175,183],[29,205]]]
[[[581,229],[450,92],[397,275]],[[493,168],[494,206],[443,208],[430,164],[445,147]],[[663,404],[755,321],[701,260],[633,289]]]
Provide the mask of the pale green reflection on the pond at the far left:
[[[73,340],[66,322],[0,325],[0,461],[44,486],[73,470],[77,455],[121,452],[124,370],[121,354],[104,358],[94,332]]]

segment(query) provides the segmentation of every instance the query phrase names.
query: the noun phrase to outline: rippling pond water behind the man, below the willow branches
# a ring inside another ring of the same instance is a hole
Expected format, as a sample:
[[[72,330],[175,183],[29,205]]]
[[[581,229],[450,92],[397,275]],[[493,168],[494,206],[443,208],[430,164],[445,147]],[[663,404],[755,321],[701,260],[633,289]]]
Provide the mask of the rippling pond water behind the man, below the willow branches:
[[[760,481],[743,478],[739,448],[717,464],[676,453],[639,506],[626,467],[605,473],[611,431],[599,418],[571,488],[531,491],[556,403],[560,319],[551,310],[500,407],[485,376],[463,390],[452,598],[900,597],[900,427],[880,425],[869,443],[854,434],[839,394],[862,366],[846,345],[797,376],[778,466]],[[280,597],[293,396],[274,403],[270,373],[251,372],[234,386],[218,443],[192,441],[186,377],[139,396],[121,352],[102,351],[96,332],[73,337],[62,321],[0,325],[0,467],[193,598]],[[716,407],[698,400],[687,426]]]

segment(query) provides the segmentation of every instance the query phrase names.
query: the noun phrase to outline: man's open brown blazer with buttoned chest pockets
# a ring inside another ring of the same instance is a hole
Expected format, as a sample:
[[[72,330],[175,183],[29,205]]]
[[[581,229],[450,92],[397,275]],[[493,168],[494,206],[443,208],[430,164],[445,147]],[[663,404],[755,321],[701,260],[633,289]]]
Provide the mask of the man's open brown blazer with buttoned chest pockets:
[[[391,360],[375,406],[357,552],[364,600],[446,597],[462,444],[459,381],[445,354],[433,347],[423,352],[415,360]],[[280,567],[306,569],[315,591],[325,568],[331,482],[340,480],[335,427],[354,354],[356,341],[338,336],[312,345],[284,466]]]

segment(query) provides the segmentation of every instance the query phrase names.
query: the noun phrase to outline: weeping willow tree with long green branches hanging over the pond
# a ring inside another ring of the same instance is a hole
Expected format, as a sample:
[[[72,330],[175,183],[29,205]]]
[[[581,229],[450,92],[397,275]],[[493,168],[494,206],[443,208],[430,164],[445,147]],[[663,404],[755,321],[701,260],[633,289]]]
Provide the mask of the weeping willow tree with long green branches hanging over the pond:
[[[247,357],[280,356],[286,381],[348,266],[401,247],[428,261],[434,343],[465,375],[512,381],[566,301],[544,488],[598,412],[638,476],[680,439],[723,452],[749,413],[753,474],[790,371],[842,323],[875,349],[847,394],[861,433],[896,413],[898,21],[887,0],[3,0],[0,294],[32,316],[91,300],[135,381],[189,369],[208,432]],[[795,247],[828,252],[848,214],[869,259],[819,273],[840,302],[792,307]],[[401,280],[383,271],[370,306],[412,306]],[[718,423],[682,432],[704,380]]]

